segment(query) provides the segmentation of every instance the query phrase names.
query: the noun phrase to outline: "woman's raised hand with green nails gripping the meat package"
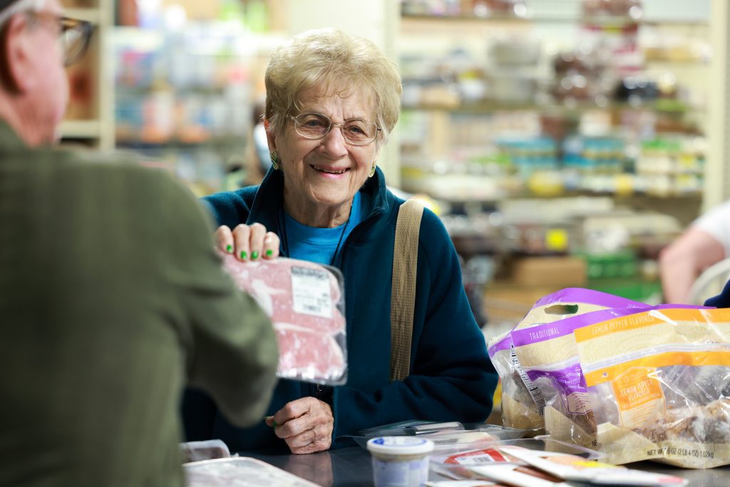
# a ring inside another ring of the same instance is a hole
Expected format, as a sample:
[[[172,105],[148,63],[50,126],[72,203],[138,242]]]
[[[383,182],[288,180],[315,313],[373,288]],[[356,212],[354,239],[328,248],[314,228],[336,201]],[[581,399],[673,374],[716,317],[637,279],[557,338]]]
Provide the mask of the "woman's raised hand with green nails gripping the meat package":
[[[266,231],[261,223],[251,226],[241,223],[233,231],[225,225],[219,226],[215,239],[222,252],[232,253],[242,261],[279,256],[279,236],[273,231]]]

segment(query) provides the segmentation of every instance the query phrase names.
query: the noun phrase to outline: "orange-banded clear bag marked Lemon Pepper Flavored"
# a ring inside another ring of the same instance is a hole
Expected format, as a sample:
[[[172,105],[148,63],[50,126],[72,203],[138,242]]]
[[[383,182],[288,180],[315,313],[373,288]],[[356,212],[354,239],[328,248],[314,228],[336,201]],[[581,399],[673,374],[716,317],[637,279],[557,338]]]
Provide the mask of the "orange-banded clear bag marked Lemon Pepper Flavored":
[[[574,334],[607,461],[730,464],[730,310],[649,310]]]

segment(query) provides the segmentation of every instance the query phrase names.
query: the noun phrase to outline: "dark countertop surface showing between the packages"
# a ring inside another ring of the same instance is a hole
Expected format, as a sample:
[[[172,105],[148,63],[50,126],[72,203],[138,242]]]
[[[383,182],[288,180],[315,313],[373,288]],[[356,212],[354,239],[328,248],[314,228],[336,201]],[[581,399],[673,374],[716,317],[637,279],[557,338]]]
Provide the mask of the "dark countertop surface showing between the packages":
[[[372,487],[370,454],[358,446],[323,451],[311,455],[251,455],[301,478],[324,487]],[[730,467],[690,470],[669,467],[651,461],[639,461],[627,467],[683,477],[691,487],[730,486]],[[431,480],[439,476],[431,472]]]

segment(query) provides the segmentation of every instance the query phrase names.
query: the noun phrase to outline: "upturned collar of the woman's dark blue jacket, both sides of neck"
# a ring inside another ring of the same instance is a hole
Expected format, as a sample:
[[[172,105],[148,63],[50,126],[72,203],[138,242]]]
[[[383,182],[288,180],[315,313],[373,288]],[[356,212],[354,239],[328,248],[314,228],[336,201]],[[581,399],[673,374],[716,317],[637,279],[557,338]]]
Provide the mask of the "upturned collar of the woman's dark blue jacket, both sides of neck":
[[[370,196],[370,210],[363,223],[387,213],[395,202],[395,197],[385,187],[385,175],[379,167],[375,168],[375,174],[366,180],[360,191]],[[269,168],[264,180],[261,181],[261,185],[258,187],[258,191],[256,191],[246,223],[258,222],[266,226],[267,229],[276,229],[279,212],[283,210],[283,195],[283,173]]]

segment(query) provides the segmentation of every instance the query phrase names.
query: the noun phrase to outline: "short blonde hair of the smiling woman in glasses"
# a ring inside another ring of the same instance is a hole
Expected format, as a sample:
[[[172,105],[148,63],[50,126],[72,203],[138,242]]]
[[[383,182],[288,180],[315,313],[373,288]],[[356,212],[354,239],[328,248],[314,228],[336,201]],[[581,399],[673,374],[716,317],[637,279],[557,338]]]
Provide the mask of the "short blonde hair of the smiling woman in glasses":
[[[340,88],[341,96],[363,90],[374,101],[373,121],[382,130],[382,142],[398,121],[402,88],[395,64],[368,39],[334,28],[305,31],[275,50],[265,83],[264,116],[274,133],[283,131],[288,115],[299,112],[302,91],[315,85]]]

